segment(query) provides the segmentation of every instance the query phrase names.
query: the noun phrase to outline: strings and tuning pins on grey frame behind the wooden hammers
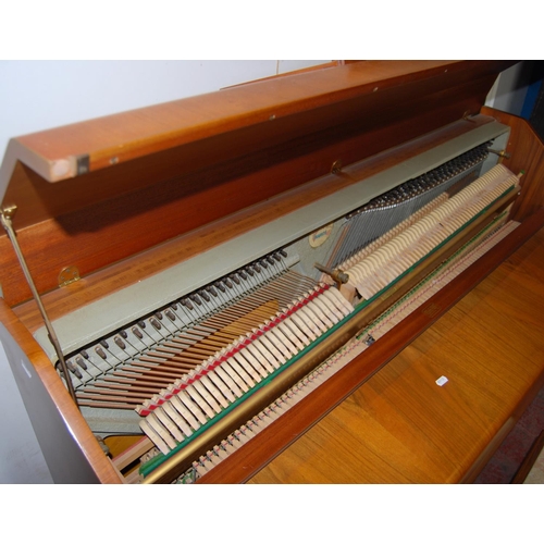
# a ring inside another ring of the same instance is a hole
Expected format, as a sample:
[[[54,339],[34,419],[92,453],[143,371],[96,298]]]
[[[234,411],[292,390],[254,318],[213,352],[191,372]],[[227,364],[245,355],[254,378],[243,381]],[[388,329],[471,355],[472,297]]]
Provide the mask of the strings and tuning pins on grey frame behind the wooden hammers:
[[[341,218],[336,242],[323,259],[338,262],[349,255],[341,268],[366,265],[369,251],[478,177],[491,145],[480,144]],[[300,243],[280,248],[69,355],[77,400],[91,428],[104,435],[139,432],[132,410],[239,336],[252,334],[319,282],[331,282],[313,262],[296,271],[304,252]]]

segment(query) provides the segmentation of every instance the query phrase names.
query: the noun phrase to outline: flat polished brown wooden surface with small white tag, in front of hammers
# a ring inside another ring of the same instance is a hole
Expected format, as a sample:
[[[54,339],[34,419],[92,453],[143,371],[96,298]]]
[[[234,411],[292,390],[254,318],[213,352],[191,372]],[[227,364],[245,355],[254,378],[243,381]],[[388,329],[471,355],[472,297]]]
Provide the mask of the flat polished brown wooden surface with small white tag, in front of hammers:
[[[250,482],[472,481],[543,384],[543,308],[541,230]]]

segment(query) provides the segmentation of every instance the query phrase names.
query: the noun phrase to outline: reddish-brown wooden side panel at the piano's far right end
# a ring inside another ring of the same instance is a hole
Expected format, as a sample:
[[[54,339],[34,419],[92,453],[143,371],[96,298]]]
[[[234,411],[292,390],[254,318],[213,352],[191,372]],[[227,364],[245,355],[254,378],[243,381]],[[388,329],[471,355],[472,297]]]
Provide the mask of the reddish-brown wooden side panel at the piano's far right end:
[[[544,143],[524,119],[492,108],[482,112],[511,127],[506,149],[511,158],[504,159],[503,164],[516,174],[524,172],[521,198],[512,212],[514,219],[522,221],[544,206]]]

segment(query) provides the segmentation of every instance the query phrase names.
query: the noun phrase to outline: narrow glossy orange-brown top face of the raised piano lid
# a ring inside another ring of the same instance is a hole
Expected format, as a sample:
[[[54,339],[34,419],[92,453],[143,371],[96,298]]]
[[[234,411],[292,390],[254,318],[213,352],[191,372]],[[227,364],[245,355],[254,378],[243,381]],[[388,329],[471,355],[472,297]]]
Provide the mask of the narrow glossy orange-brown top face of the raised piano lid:
[[[502,63],[362,61],[223,89],[14,138],[49,182],[407,83]],[[375,85],[379,83],[379,87]],[[86,158],[86,159],[85,159]],[[79,169],[79,170],[78,170]]]

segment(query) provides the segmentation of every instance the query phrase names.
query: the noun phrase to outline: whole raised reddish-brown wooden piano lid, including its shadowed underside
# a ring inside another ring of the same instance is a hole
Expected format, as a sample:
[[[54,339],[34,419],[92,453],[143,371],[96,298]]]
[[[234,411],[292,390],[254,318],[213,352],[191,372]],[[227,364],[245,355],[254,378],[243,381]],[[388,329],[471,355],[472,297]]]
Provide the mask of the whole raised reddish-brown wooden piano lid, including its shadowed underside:
[[[361,61],[21,136],[0,199],[48,292],[475,114],[511,64]],[[0,270],[8,304],[28,299],[5,235]]]

